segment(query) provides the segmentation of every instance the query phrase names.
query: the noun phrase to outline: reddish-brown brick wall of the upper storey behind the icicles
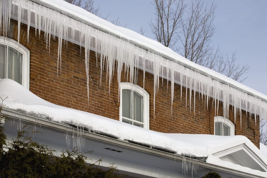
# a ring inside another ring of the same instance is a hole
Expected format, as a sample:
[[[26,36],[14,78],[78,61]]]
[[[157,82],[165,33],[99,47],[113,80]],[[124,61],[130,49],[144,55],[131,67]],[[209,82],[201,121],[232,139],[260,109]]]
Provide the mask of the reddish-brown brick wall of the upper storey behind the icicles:
[[[9,37],[17,40],[17,22],[9,32]],[[95,52],[90,53],[89,70],[89,100],[87,97],[87,82],[85,74],[84,48],[70,42],[62,45],[62,61],[57,72],[58,39],[51,38],[50,49],[46,47],[44,33],[35,35],[35,29],[30,28],[29,42],[27,42],[27,27],[21,25],[20,43],[30,50],[30,91],[37,96],[54,104],[73,109],[98,114],[108,118],[119,120],[118,83],[115,72],[110,89],[106,78],[106,70],[102,73],[100,85],[100,61],[96,61]],[[50,52],[49,52],[50,50]],[[160,79],[160,83],[161,83]],[[127,81],[124,75],[121,82]],[[155,115],[153,107],[154,86],[153,76],[146,73],[145,89],[150,94],[150,129],[164,133],[190,133],[190,134],[214,134],[214,106],[212,100],[208,106],[205,100],[196,94],[195,112],[193,96],[191,109],[189,102],[189,90],[182,89],[180,97],[180,85],[175,84],[174,100],[171,112],[171,85],[167,88],[167,80],[163,79],[155,100]],[[137,84],[143,87],[143,71],[138,72]],[[231,108],[231,107],[230,107]],[[219,115],[222,115],[222,104],[219,106]],[[234,122],[233,112],[230,109],[229,119]],[[254,119],[242,112],[235,122],[235,135],[248,137],[259,147],[259,120],[255,124]],[[241,126],[240,126],[241,125]]]

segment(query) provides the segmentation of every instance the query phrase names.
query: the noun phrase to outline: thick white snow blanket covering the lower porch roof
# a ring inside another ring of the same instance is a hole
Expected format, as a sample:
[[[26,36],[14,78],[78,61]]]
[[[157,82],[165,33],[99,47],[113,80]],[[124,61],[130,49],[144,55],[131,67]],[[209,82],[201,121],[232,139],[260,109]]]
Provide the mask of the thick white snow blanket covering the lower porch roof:
[[[222,161],[213,156],[214,153],[245,144],[267,163],[266,157],[263,156],[260,150],[245,136],[160,133],[96,114],[52,104],[34,95],[32,92],[10,79],[1,79],[0,88],[0,97],[5,98],[8,96],[3,104],[8,106],[11,110],[23,110],[27,113],[47,116],[54,122],[83,126],[89,130],[115,136],[120,140],[142,143],[150,145],[152,148],[164,148],[178,155],[207,157],[207,163],[267,177],[267,172],[261,172]]]

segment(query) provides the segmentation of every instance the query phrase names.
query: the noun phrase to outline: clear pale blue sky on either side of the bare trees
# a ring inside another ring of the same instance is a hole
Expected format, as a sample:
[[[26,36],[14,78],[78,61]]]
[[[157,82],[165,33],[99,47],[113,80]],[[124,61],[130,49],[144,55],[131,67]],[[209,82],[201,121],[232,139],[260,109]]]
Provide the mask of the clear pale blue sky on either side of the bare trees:
[[[210,4],[211,0],[204,0]],[[121,26],[139,33],[141,26],[145,35],[154,39],[148,21],[154,19],[154,6],[150,0],[95,0],[108,21],[117,19]],[[186,0],[186,2],[190,2]],[[216,32],[215,46],[231,55],[237,51],[237,62],[249,64],[248,78],[243,82],[267,95],[267,0],[215,0]]]

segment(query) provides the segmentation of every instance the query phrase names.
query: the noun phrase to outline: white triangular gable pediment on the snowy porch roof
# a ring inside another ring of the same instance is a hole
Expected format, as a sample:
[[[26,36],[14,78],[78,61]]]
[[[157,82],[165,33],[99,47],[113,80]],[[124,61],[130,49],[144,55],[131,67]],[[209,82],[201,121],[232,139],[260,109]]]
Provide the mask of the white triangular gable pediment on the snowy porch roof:
[[[217,153],[213,156],[223,161],[238,164],[262,172],[267,171],[267,165],[262,159],[254,153],[246,144],[241,144]]]

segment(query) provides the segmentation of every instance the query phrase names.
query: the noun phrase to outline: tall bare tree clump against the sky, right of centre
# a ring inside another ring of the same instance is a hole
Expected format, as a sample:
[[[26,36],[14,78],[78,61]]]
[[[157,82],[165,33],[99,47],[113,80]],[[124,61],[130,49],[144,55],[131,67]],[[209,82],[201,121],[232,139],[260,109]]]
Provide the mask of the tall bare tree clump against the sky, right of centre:
[[[236,52],[223,55],[219,46],[214,48],[214,18],[216,4],[210,6],[203,0],[154,0],[155,19],[149,23],[157,41],[180,53],[188,60],[242,82],[249,65],[236,63]]]

